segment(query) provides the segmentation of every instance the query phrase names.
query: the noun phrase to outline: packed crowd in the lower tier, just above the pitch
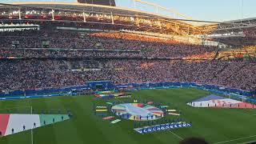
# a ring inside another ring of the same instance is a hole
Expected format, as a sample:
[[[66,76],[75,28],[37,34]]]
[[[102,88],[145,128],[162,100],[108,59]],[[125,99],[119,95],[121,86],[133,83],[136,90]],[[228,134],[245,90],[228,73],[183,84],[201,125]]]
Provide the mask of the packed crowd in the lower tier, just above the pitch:
[[[91,80],[202,82],[256,90],[256,65],[252,62],[6,60],[0,62],[0,70],[0,91],[74,86]]]

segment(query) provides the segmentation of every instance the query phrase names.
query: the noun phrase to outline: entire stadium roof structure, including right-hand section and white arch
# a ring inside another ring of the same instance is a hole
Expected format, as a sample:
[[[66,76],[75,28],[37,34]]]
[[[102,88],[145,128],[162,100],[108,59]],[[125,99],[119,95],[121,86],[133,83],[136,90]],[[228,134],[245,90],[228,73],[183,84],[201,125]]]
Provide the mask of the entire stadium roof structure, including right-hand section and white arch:
[[[38,24],[76,23],[74,26],[97,27],[105,30],[135,30],[154,34],[168,34],[168,37],[182,42],[204,45],[241,46],[255,44],[255,18],[230,22],[199,22],[175,11],[149,2],[156,13],[115,6],[114,0],[78,0],[78,2],[14,2],[0,5],[2,23],[29,22]],[[166,10],[174,17],[162,15],[158,10]],[[60,25],[62,25],[60,24]],[[2,26],[1,26],[2,27]]]

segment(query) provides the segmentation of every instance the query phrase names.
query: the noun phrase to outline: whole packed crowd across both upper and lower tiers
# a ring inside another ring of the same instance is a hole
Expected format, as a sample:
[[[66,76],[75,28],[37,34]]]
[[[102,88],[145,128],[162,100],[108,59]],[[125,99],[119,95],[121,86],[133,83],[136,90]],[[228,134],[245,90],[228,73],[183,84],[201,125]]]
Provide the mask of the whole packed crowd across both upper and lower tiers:
[[[14,46],[14,41],[19,43],[18,46]],[[49,46],[43,46],[43,42],[49,42]],[[202,82],[256,90],[256,65],[253,62],[186,59],[212,60],[216,51],[216,47],[136,34],[46,30],[3,32],[0,33],[0,91],[74,86],[91,80]],[[88,58],[101,61],[91,62],[86,60]]]

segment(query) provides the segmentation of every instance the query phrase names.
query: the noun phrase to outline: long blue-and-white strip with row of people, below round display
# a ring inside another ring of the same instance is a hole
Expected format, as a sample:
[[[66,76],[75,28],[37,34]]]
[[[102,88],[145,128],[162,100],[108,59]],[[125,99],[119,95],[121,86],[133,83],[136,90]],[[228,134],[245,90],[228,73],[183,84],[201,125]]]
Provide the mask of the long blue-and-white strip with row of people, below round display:
[[[139,134],[148,134],[148,133],[154,133],[162,130],[173,130],[173,129],[190,127],[190,126],[192,126],[191,123],[187,123],[187,122],[173,122],[173,123],[165,123],[165,124],[160,124],[155,126],[145,126],[141,128],[135,128],[134,130],[137,131]]]

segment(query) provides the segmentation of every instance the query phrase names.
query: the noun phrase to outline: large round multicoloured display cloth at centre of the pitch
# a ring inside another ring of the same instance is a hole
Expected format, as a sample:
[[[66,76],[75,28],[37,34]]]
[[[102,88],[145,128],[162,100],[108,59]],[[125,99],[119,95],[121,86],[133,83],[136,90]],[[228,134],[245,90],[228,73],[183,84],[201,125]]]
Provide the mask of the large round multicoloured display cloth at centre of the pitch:
[[[122,103],[112,106],[111,111],[124,119],[134,121],[150,121],[163,117],[158,107],[142,103]]]

